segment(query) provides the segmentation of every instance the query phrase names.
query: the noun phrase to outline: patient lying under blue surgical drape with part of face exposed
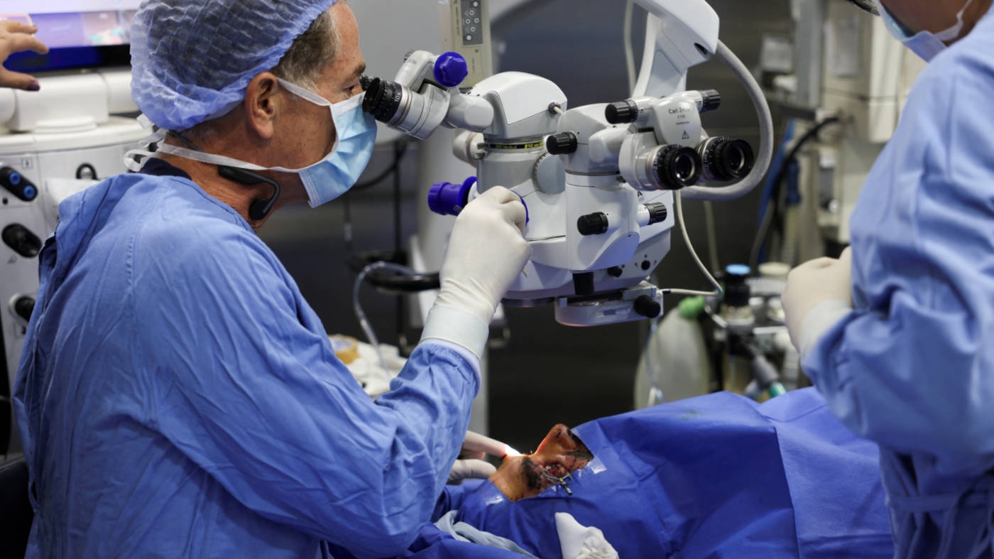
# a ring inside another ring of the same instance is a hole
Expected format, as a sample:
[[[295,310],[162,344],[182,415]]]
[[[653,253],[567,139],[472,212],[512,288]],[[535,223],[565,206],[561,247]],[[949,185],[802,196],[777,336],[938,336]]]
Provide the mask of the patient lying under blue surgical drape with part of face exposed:
[[[877,448],[814,390],[762,405],[719,393],[556,426],[534,455],[506,459],[446,504],[452,522],[546,558],[563,557],[557,512],[602,530],[620,557],[894,553]]]

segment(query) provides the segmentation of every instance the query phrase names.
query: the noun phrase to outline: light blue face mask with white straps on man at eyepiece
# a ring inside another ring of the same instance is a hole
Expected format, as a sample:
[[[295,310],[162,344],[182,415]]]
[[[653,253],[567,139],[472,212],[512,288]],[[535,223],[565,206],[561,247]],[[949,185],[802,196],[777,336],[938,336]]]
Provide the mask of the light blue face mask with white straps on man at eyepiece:
[[[327,106],[331,111],[332,120],[335,122],[335,145],[332,146],[331,152],[317,163],[300,169],[261,167],[232,157],[204,153],[168,143],[161,143],[159,151],[203,163],[237,167],[250,171],[296,173],[300,176],[300,181],[303,182],[304,188],[307,190],[307,199],[312,208],[331,202],[356,184],[373,155],[377,127],[373,116],[363,112],[365,93],[332,103],[317,93],[307,91],[289,82],[279,80],[279,84],[286,91],[314,104]]]

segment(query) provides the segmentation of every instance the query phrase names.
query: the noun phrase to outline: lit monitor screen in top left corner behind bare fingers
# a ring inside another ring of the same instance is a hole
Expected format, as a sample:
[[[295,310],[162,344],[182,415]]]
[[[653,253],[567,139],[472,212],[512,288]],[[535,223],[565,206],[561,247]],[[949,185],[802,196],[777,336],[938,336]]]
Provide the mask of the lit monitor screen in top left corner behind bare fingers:
[[[0,19],[38,26],[48,55],[21,53],[4,65],[16,72],[127,66],[131,19],[139,0],[0,0]]]

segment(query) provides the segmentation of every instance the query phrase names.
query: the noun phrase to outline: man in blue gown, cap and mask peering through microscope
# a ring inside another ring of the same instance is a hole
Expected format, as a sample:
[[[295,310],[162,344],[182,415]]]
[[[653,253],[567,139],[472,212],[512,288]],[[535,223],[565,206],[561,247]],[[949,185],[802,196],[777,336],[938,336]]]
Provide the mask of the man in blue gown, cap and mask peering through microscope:
[[[524,207],[495,188],[465,208],[421,343],[371,401],[255,235],[288,203],[343,194],[370,158],[348,4],[146,0],[131,36],[161,145],[64,202],[40,255],[15,387],[28,557],[402,552],[529,259]]]

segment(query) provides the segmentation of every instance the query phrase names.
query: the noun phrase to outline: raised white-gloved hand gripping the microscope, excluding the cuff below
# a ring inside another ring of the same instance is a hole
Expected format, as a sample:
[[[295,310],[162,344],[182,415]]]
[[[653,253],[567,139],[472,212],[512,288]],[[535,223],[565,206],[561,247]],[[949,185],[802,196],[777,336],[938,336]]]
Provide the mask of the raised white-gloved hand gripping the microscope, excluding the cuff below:
[[[499,186],[466,204],[448,241],[435,304],[462,308],[489,324],[532,256],[525,218],[518,195]]]

